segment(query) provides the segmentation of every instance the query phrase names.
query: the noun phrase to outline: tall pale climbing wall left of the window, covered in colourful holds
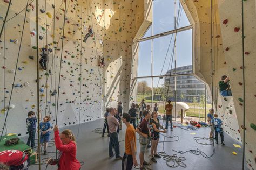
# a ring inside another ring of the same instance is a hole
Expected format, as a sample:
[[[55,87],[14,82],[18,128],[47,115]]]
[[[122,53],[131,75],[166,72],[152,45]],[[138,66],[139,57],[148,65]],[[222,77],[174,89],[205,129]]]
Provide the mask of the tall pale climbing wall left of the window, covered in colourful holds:
[[[0,43],[0,124],[3,125],[27,11],[15,87],[10,102],[14,108],[9,110],[6,122],[7,132],[22,136],[26,133],[27,113],[37,110],[37,62],[34,49],[37,34],[36,2],[29,0],[28,3],[26,10],[26,0],[12,1]],[[0,2],[0,17],[5,17],[7,6],[8,3]],[[51,123],[56,124],[58,94],[51,94],[54,90],[58,91],[60,70],[59,126],[78,124],[79,120],[83,123],[98,119],[102,116],[105,105],[116,107],[117,101],[129,101],[131,42],[144,17],[144,2],[66,0],[64,37],[62,31],[65,1],[40,1],[38,8],[39,48],[48,44],[53,50],[49,52],[48,70],[39,71],[42,117],[50,115]],[[0,26],[2,24],[3,22]],[[89,25],[92,26],[93,36],[85,43],[82,40]],[[16,39],[17,44],[13,42]],[[61,52],[63,55],[60,69]],[[98,66],[99,56],[105,58],[104,67]],[[124,107],[128,109],[128,105]]]

